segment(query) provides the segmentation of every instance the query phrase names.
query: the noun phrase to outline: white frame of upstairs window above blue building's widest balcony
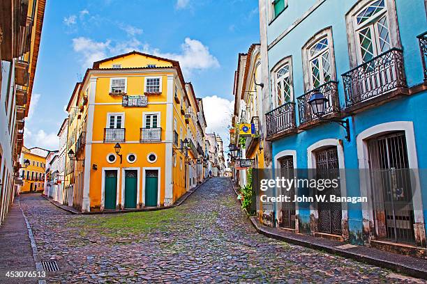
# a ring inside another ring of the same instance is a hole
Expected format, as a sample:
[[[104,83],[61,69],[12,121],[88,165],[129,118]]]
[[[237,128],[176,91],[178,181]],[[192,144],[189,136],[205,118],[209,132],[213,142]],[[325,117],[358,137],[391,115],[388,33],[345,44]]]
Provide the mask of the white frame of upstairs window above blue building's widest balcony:
[[[347,42],[348,52],[350,55],[350,68],[355,68],[359,65],[359,40],[357,38],[357,27],[354,26],[354,17],[361,12],[370,3],[375,0],[359,0],[354,6],[345,14],[345,22],[347,26]],[[396,12],[396,1],[395,0],[384,0],[387,8],[387,23],[389,27],[389,38],[391,48],[402,48],[400,42],[400,32],[398,27],[398,18]]]

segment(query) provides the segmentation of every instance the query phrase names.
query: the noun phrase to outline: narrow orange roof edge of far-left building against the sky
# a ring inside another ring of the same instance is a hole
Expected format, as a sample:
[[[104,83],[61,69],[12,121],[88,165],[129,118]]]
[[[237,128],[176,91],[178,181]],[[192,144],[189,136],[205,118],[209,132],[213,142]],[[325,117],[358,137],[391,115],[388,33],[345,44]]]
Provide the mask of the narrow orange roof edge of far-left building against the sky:
[[[28,116],[29,105],[31,102],[31,93],[33,92],[34,76],[36,75],[36,66],[38,58],[38,50],[40,49],[40,38],[43,28],[43,19],[45,17],[45,6],[46,0],[38,0],[37,2],[37,20],[36,20],[36,31],[34,36],[34,47],[33,54],[31,58],[31,72],[28,83],[28,92],[27,92],[27,107],[25,108],[25,116]]]

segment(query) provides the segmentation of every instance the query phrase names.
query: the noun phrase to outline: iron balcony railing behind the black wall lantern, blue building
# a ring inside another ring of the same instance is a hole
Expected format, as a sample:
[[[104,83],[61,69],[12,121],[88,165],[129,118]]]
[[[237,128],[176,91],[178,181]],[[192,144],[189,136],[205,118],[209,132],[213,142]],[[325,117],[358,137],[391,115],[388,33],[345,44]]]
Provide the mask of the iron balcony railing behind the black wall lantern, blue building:
[[[325,115],[340,111],[340,100],[338,99],[338,81],[329,81],[313,90],[309,90],[304,95],[297,97],[300,125],[304,125],[305,123],[309,123],[310,121],[317,119],[317,116],[313,113],[313,109],[311,109],[311,106],[308,104],[311,95],[317,92],[322,93],[328,100],[324,109]]]

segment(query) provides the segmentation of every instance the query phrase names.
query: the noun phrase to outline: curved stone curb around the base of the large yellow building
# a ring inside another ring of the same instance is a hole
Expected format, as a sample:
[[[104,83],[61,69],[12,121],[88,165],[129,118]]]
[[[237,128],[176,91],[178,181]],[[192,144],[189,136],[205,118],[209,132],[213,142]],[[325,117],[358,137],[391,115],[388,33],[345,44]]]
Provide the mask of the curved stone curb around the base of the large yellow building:
[[[180,206],[182,203],[184,203],[184,201],[187,200],[188,197],[190,197],[195,191],[197,191],[197,189],[199,189],[205,182],[207,182],[210,179],[211,178],[206,178],[200,184],[198,184],[197,187],[195,187],[192,190],[187,191],[186,194],[181,196],[181,198],[179,198],[173,205],[164,206],[164,207],[152,207],[152,208],[131,209],[131,210],[117,210],[117,211],[106,211],[106,212],[105,211],[104,212],[80,212],[80,211],[77,211],[74,208],[68,207],[66,205],[61,205],[61,204],[57,203],[56,201],[50,199],[49,197],[45,196],[44,194],[42,194],[42,197],[45,198],[46,200],[48,200],[53,205],[55,205],[56,207],[58,207],[59,209],[64,210],[66,212],[69,212],[70,214],[76,214],[76,215],[78,215],[78,214],[80,214],[80,215],[121,214],[121,213],[130,213],[130,212],[158,211],[158,210],[165,210],[165,209],[170,209],[173,207]]]

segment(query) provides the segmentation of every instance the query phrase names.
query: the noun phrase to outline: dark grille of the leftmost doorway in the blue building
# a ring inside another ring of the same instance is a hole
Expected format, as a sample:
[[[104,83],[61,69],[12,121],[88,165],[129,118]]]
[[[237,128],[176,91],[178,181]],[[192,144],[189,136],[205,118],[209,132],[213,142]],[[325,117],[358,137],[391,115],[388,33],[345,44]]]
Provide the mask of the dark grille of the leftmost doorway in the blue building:
[[[285,156],[279,160],[280,174],[284,178],[294,178],[294,158],[292,156]],[[289,191],[283,190],[280,194],[290,196],[294,200],[295,188],[292,187]],[[283,202],[279,215],[279,226],[282,228],[295,228],[295,203]]]

